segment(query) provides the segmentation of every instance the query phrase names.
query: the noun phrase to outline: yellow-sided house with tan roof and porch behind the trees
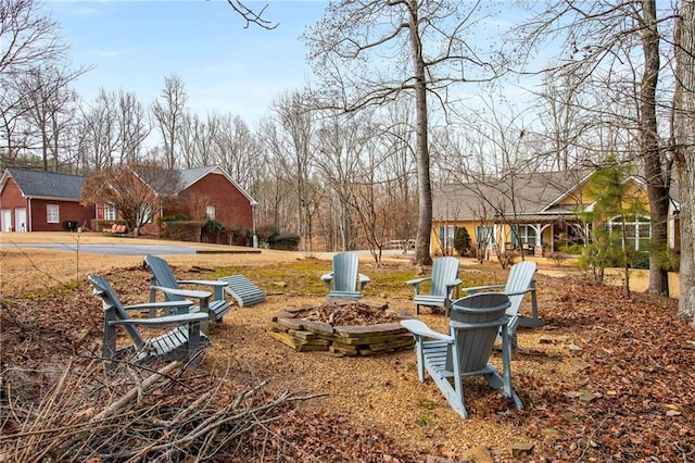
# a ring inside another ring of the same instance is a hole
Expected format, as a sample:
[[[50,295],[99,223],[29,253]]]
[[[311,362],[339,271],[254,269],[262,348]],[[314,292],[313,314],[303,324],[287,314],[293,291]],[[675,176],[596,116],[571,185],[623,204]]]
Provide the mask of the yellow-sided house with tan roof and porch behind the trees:
[[[454,237],[465,227],[471,238],[471,253],[492,259],[513,250],[547,255],[568,243],[590,239],[591,225],[582,223],[579,211],[593,207],[585,197],[593,171],[536,172],[508,175],[501,179],[451,184],[432,190],[431,253],[454,253]],[[648,201],[644,183],[630,177],[630,190]],[[678,247],[679,203],[671,199],[669,245]],[[648,214],[646,212],[645,214]],[[618,226],[619,217],[615,217]],[[611,222],[612,223],[612,222]],[[610,224],[609,224],[610,226]],[[636,250],[646,249],[650,236],[648,215],[628,217],[627,238]]]

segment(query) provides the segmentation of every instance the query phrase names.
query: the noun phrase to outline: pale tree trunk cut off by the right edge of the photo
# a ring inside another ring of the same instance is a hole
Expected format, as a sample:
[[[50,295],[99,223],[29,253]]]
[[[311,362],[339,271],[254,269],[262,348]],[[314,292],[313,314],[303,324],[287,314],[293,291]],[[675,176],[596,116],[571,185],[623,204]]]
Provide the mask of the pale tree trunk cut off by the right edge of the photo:
[[[683,0],[675,59],[677,166],[681,189],[679,314],[692,318],[695,327],[695,0]]]

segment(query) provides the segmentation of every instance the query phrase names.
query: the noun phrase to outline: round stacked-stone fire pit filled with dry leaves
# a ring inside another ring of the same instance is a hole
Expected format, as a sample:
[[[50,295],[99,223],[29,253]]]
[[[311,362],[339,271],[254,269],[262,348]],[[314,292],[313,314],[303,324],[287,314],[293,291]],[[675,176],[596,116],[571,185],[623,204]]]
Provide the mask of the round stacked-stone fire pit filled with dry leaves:
[[[405,318],[412,315],[386,302],[328,301],[276,313],[270,336],[300,352],[374,355],[413,348],[413,335],[399,323]]]

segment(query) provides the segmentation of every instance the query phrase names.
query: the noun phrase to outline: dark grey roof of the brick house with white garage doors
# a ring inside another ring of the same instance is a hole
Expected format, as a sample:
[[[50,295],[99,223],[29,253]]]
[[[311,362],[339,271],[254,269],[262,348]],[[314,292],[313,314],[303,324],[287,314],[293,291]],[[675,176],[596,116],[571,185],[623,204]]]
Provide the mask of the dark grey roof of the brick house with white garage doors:
[[[79,201],[79,192],[86,179],[80,175],[10,167],[2,175],[0,190],[4,188],[8,177],[14,178],[25,198],[62,199],[66,201]]]

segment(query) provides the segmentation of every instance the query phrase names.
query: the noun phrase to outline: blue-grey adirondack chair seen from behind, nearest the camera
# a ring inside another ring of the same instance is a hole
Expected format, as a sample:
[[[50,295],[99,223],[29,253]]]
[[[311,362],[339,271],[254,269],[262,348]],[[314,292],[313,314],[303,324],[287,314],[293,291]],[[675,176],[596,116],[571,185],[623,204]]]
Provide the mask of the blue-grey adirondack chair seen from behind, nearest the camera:
[[[451,333],[430,329],[419,320],[404,320],[401,325],[415,337],[417,373],[425,381],[425,371],[434,380],[448,404],[468,417],[464,399],[464,377],[483,375],[494,389],[502,388],[518,410],[521,400],[511,387],[511,349],[507,333],[509,299],[504,293],[479,293],[452,304]],[[489,363],[497,331],[502,329],[503,372]],[[426,340],[430,339],[430,340]]]

